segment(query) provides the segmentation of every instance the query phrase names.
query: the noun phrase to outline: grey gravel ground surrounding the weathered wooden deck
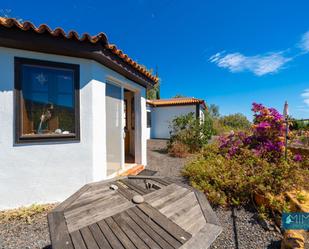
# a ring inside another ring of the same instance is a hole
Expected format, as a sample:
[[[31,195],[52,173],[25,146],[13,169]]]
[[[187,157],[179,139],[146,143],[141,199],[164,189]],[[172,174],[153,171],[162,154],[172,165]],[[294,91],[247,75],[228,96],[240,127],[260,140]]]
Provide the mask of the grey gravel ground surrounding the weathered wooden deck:
[[[186,159],[173,158],[164,151],[166,141],[148,142],[148,166],[157,175],[179,176]],[[211,249],[274,249],[280,248],[280,233],[265,231],[256,220],[256,212],[250,209],[218,208],[215,210],[223,232]],[[23,222],[0,222],[0,249],[50,249],[46,214],[37,215],[31,224]],[[192,248],[194,249],[194,248]]]

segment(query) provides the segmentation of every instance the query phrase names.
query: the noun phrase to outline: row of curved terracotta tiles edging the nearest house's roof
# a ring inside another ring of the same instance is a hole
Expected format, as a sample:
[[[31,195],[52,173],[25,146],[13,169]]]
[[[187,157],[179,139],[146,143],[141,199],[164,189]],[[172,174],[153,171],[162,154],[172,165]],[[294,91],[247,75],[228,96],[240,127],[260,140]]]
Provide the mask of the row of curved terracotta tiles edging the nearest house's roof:
[[[139,65],[137,62],[132,60],[127,54],[123,53],[122,50],[118,49],[116,45],[109,44],[107,40],[107,36],[104,33],[99,33],[95,36],[91,36],[88,33],[84,33],[81,36],[78,35],[78,33],[74,30],[69,31],[66,33],[62,28],[58,27],[54,30],[52,30],[48,25],[41,24],[39,27],[35,27],[34,24],[31,22],[25,21],[25,22],[19,22],[14,18],[5,18],[0,17],[0,26],[6,27],[6,28],[13,28],[17,27],[23,31],[35,31],[38,34],[48,33],[49,35],[53,37],[63,37],[66,39],[72,39],[72,40],[78,40],[81,42],[90,42],[90,43],[102,43],[104,47],[108,50],[110,50],[112,53],[117,55],[120,59],[131,65],[135,70],[139,71],[140,73],[144,74],[146,77],[148,77],[150,80],[154,81],[155,83],[158,82],[158,78],[153,76],[148,70],[146,70],[143,66]]]

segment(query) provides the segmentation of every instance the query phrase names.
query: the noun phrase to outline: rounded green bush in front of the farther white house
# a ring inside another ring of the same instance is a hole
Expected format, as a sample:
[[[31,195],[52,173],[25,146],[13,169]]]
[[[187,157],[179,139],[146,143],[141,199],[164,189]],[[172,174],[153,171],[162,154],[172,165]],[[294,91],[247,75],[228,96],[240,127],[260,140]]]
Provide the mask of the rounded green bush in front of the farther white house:
[[[170,140],[167,148],[171,154],[179,152],[180,146],[186,147],[186,153],[198,152],[213,134],[212,120],[205,115],[204,121],[196,119],[194,113],[176,117],[170,125]],[[177,148],[174,148],[177,147]]]

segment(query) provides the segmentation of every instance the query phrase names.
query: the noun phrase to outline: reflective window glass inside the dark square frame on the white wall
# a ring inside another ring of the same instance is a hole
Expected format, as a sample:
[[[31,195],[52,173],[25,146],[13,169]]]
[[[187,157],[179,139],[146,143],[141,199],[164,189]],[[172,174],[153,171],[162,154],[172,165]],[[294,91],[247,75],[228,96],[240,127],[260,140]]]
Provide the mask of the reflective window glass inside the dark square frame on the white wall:
[[[74,70],[27,64],[20,69],[21,135],[74,135]]]

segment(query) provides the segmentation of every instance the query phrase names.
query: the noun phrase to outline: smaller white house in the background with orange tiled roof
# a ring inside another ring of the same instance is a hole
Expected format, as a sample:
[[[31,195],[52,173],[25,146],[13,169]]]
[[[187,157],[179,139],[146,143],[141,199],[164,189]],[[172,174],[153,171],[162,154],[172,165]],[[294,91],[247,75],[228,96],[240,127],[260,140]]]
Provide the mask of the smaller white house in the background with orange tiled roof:
[[[203,120],[205,109],[204,100],[196,98],[147,100],[147,139],[168,139],[173,119],[192,112]]]

